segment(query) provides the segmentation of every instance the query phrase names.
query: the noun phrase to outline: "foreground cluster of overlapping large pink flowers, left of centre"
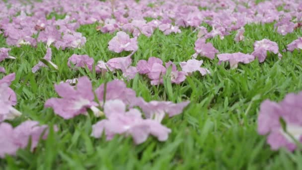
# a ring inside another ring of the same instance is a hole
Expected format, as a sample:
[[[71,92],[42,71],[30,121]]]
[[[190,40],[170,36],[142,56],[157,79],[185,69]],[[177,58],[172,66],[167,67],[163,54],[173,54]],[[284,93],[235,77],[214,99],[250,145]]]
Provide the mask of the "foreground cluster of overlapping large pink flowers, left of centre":
[[[159,141],[167,140],[171,130],[160,124],[164,115],[166,113],[169,117],[178,115],[190,103],[146,102],[142,97],[137,97],[136,92],[120,80],[102,84],[95,90],[100,104],[94,102],[94,91],[86,77],[79,78],[75,86],[61,83],[55,85],[55,88],[62,98],[48,99],[45,107],[52,107],[54,112],[64,119],[85,114],[88,108],[96,116],[105,114],[106,119],[93,125],[92,136],[100,138],[105,132],[107,140],[111,140],[116,134],[131,135],[136,144],[146,141],[149,135],[157,137]],[[103,107],[104,113],[97,106]],[[133,108],[134,106],[140,107],[147,119],[143,119],[143,114]]]

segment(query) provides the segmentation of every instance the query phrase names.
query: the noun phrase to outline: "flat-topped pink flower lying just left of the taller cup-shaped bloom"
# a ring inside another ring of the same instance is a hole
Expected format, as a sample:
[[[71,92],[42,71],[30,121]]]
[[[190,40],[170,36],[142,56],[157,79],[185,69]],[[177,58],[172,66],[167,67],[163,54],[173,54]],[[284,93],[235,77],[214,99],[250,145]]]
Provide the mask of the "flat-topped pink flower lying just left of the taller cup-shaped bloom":
[[[237,68],[238,63],[250,63],[255,60],[255,56],[249,55],[249,54],[243,54],[243,53],[225,53],[225,54],[218,54],[217,55],[219,59],[219,63],[221,64],[222,62],[229,62],[230,68]]]

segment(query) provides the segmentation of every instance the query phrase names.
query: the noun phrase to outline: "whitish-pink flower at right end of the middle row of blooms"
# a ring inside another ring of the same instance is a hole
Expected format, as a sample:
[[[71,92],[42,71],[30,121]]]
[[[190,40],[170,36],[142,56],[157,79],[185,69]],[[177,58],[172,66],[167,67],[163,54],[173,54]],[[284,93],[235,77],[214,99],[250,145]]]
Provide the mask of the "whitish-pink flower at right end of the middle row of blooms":
[[[185,72],[187,75],[191,75],[193,72],[199,71],[199,73],[204,76],[207,74],[210,74],[210,71],[208,69],[201,68],[200,66],[203,64],[202,60],[188,60],[187,62],[180,62],[180,67],[183,72]]]

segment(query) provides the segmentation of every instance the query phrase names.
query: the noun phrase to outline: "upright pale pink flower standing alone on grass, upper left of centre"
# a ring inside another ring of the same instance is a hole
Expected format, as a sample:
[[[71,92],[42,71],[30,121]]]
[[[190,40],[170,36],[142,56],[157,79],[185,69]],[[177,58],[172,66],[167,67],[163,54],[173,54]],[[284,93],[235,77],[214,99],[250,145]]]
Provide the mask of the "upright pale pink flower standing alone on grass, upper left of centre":
[[[130,38],[130,36],[123,31],[119,31],[116,36],[109,41],[108,45],[109,50],[116,53],[138,50],[137,37]]]

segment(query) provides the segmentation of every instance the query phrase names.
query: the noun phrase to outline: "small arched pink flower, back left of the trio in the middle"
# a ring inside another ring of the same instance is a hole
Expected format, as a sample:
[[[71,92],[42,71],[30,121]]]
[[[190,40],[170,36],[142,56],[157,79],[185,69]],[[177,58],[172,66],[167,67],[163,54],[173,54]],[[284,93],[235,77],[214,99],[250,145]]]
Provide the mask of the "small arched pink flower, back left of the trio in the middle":
[[[162,65],[161,59],[156,57],[150,57],[148,59],[148,62],[146,60],[140,60],[136,67],[140,74],[148,74],[150,73],[151,68],[155,63]]]

